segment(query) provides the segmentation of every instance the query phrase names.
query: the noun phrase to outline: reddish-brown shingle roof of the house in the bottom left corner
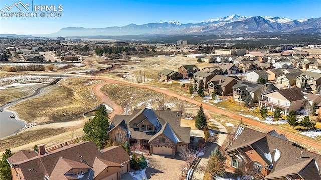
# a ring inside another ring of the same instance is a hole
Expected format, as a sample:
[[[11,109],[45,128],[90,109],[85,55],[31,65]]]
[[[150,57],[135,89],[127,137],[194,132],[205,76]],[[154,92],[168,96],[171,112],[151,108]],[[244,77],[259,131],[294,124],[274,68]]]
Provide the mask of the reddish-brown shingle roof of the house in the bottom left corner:
[[[117,158],[113,157],[114,153],[115,155],[117,155]],[[20,157],[21,153],[16,154],[13,155],[13,159],[23,159],[22,157]],[[125,154],[127,155],[126,158]],[[86,141],[68,145],[57,150],[45,153],[43,155],[34,156],[30,159],[13,161],[13,163],[11,163],[11,161],[9,162],[13,166],[18,165],[20,167],[26,180],[43,179],[45,175],[57,176],[57,178],[50,179],[63,179],[63,177],[60,176],[61,174],[58,174],[62,172],[59,169],[65,170],[68,166],[81,166],[80,164],[82,164],[83,166],[93,166],[96,157],[109,161],[112,161],[110,159],[114,159],[115,161],[117,160],[116,163],[119,163],[121,160],[128,161],[129,159],[128,154],[121,147],[117,150],[113,150],[113,148],[107,148],[100,152],[92,141]],[[83,164],[82,162],[86,162],[86,164]],[[56,167],[58,169],[56,169]],[[70,179],[70,177],[68,177],[68,179]]]

